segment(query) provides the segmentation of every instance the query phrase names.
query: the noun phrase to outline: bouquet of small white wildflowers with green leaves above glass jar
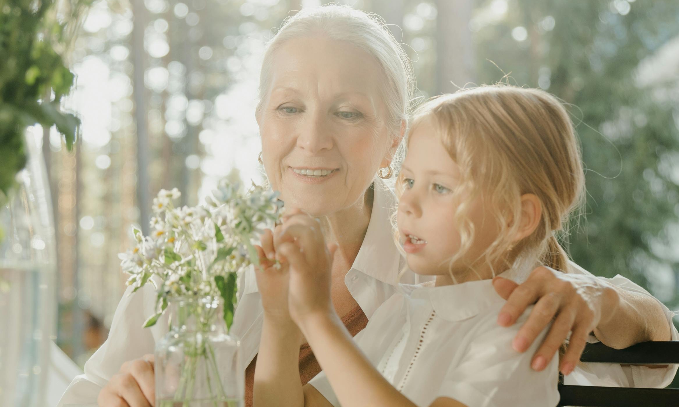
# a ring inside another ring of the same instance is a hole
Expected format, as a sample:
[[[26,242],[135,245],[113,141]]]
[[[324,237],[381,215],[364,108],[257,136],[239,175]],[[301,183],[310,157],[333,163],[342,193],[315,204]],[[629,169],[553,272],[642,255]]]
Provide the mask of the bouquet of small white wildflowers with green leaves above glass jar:
[[[153,326],[171,298],[221,298],[223,318],[231,327],[236,305],[236,276],[259,258],[253,241],[279,217],[278,193],[253,185],[249,193],[240,185],[221,182],[206,204],[175,207],[181,193],[162,189],[153,199],[151,235],[133,228],[135,244],[118,256],[130,275],[135,292],[151,282],[158,292]]]

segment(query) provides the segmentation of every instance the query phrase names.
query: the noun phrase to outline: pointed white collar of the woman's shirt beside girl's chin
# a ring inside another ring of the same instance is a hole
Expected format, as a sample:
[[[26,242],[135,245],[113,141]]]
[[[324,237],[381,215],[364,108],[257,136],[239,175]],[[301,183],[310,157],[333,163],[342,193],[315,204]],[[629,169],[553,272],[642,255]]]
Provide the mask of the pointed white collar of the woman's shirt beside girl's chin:
[[[360,271],[391,286],[397,286],[401,253],[394,243],[391,224],[391,215],[397,207],[397,199],[380,178],[375,179],[373,189],[370,222],[359,254],[354,259],[352,270]]]

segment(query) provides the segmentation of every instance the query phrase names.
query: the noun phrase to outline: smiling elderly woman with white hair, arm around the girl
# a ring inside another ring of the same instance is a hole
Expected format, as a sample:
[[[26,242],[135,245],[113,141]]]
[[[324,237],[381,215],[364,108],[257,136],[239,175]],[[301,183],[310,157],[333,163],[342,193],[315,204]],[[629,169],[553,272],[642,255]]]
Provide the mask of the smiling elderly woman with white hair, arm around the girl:
[[[320,218],[325,239],[339,246],[332,269],[333,304],[354,335],[394,293],[404,265],[392,243],[389,217],[395,199],[385,179],[395,171],[412,94],[409,61],[399,43],[380,21],[348,7],[299,12],[272,39],[263,60],[256,111],[260,162],[287,208]],[[243,277],[232,327],[242,341],[247,404],[263,326],[261,303],[266,301],[253,273]],[[418,281],[406,273],[401,282]],[[513,324],[537,303],[512,344],[525,351],[554,319],[533,357],[534,369],[543,369],[572,332],[560,364],[564,374],[572,373],[566,379],[570,383],[661,387],[672,380],[673,368],[576,366],[586,341],[622,348],[677,338],[672,313],[636,284],[621,276],[594,277],[576,265],[570,273],[538,268],[520,283],[496,279],[496,290],[508,300],[498,324]],[[148,354],[166,332],[167,321],[141,328],[153,313],[152,290],[145,286],[123,296],[108,340],[60,405],[153,404]],[[299,357],[302,384],[320,372],[306,344],[291,357]]]

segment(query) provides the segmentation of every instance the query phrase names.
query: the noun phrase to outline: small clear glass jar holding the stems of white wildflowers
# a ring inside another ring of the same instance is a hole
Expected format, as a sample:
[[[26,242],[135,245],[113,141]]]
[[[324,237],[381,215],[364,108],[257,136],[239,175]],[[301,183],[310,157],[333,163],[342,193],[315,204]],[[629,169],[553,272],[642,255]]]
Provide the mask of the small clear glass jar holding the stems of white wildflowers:
[[[244,407],[240,341],[227,334],[221,299],[176,298],[155,345],[156,407]]]

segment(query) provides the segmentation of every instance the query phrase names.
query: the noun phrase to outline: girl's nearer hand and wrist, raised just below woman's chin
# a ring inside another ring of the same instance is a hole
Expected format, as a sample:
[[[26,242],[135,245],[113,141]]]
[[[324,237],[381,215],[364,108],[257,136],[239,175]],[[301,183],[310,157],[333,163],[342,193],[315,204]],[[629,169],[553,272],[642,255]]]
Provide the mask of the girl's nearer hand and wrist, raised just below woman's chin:
[[[326,247],[320,223],[306,214],[291,214],[282,226],[274,238],[276,258],[289,264],[289,311],[302,328],[312,315],[335,312],[330,284],[337,245]]]

